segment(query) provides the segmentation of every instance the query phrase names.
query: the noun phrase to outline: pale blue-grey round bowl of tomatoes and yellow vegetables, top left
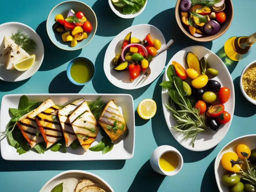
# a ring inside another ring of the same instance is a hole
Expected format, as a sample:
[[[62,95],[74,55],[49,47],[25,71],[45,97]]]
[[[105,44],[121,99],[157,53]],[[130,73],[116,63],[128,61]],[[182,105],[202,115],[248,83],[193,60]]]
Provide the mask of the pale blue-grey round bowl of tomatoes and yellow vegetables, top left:
[[[78,50],[86,46],[97,30],[97,18],[91,7],[79,1],[56,5],[46,23],[51,41],[64,50]]]

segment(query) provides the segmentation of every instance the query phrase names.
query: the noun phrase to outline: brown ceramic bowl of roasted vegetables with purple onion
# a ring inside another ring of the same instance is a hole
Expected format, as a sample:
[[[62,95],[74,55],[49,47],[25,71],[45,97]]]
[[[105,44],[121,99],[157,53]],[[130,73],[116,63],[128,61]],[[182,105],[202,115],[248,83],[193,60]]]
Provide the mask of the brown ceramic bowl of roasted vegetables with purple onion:
[[[212,41],[223,35],[233,19],[231,0],[178,0],[175,17],[180,29],[196,41]]]

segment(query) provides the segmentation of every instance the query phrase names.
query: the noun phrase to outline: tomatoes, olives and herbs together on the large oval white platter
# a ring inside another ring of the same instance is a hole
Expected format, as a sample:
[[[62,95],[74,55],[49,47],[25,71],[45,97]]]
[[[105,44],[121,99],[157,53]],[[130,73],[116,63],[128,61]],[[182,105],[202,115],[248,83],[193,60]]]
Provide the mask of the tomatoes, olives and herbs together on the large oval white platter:
[[[223,105],[230,98],[230,90],[211,79],[218,71],[210,68],[205,57],[199,60],[188,52],[186,62],[188,69],[185,70],[173,61],[167,68],[168,81],[160,86],[168,89],[170,102],[166,107],[177,120],[172,129],[180,132],[185,140],[191,139],[194,147],[198,133],[210,132],[209,129],[218,131],[221,124],[230,121],[231,116]]]

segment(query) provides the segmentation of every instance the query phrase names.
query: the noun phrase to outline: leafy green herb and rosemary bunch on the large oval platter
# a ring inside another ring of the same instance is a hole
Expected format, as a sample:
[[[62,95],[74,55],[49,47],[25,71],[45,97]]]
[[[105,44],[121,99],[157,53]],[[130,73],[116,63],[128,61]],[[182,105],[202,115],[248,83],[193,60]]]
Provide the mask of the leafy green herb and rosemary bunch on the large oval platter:
[[[193,98],[189,98],[183,90],[182,79],[176,77],[175,68],[170,65],[167,69],[169,81],[164,81],[160,86],[168,89],[170,102],[166,103],[166,108],[173,112],[173,117],[177,120],[172,130],[179,132],[184,139],[191,139],[190,144],[195,146],[195,140],[199,133],[209,132],[205,117],[200,115],[198,109],[194,108]],[[210,133],[210,132],[209,132]]]

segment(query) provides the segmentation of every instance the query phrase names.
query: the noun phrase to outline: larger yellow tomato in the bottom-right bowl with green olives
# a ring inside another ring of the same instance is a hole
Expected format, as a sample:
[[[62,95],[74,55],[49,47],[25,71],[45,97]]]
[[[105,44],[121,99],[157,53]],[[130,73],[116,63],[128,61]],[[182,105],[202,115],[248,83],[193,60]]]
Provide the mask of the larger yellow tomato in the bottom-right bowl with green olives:
[[[235,164],[232,167],[232,164],[230,162],[231,160],[237,161],[238,160],[238,155],[234,152],[224,153],[221,157],[221,164],[222,164],[223,168],[228,170],[228,171],[239,172],[240,169],[241,169],[242,163],[240,165]]]

